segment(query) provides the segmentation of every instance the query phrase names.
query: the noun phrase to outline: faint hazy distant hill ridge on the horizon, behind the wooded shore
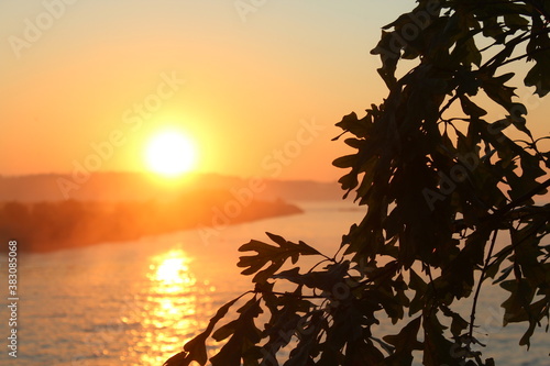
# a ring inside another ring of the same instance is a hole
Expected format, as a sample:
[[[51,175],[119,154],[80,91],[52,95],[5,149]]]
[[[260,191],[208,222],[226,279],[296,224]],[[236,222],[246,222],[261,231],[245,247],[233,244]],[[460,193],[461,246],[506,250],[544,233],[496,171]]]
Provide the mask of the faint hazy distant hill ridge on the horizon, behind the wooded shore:
[[[179,184],[167,185],[138,173],[96,173],[84,179],[70,175],[0,176],[0,201],[84,201],[172,200],[182,193],[201,190],[252,191],[254,198],[286,201],[339,200],[337,182],[312,180],[246,179],[215,174],[193,175]]]

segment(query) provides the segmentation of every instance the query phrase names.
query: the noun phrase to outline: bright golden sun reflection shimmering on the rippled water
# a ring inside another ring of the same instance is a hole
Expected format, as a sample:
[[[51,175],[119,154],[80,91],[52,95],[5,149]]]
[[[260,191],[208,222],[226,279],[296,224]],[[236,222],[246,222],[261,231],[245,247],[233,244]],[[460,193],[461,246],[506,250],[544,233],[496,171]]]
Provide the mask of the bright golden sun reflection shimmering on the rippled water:
[[[211,302],[215,288],[208,281],[197,282],[191,263],[183,249],[151,258],[141,296],[144,306],[136,319],[141,330],[132,333],[134,342],[129,350],[142,365],[162,365],[206,325],[201,313]]]

